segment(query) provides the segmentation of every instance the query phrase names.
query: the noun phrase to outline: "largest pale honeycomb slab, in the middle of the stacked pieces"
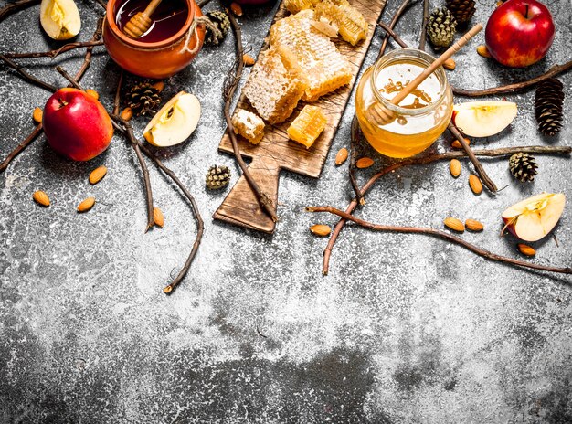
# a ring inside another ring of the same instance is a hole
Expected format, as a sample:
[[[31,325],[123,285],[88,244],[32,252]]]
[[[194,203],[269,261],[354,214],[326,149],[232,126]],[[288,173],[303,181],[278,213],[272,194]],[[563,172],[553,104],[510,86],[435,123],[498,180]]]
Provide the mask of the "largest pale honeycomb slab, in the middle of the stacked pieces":
[[[352,80],[350,62],[312,25],[312,18],[312,10],[302,10],[270,27],[270,45],[289,48],[308,79],[304,101],[314,101]]]

